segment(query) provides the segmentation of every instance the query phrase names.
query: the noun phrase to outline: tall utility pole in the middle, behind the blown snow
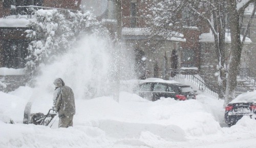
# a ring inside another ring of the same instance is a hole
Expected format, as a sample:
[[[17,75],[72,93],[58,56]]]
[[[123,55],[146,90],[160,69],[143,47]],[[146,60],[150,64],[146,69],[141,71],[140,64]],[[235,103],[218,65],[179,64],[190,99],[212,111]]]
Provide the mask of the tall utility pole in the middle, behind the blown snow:
[[[116,102],[119,102],[119,90],[120,90],[120,56],[121,56],[121,38],[122,38],[122,0],[115,0],[116,9],[116,37],[115,37],[115,82],[114,82],[114,94],[113,98]]]

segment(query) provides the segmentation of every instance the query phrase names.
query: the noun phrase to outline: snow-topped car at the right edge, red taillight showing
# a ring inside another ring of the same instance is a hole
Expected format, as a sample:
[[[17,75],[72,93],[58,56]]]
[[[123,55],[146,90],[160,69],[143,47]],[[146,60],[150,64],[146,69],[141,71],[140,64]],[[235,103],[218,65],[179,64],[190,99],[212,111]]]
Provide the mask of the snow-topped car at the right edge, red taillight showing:
[[[256,91],[238,95],[225,107],[225,122],[230,127],[243,116],[256,115]],[[255,118],[255,117],[254,117]]]

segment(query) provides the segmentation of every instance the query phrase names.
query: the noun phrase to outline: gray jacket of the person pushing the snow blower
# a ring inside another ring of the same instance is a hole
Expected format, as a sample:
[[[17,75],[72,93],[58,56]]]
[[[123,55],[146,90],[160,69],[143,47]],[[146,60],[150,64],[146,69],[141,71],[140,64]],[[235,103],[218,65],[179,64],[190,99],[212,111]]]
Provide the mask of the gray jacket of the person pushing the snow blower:
[[[69,116],[76,113],[75,97],[69,86],[60,86],[55,89],[53,105],[59,116]]]

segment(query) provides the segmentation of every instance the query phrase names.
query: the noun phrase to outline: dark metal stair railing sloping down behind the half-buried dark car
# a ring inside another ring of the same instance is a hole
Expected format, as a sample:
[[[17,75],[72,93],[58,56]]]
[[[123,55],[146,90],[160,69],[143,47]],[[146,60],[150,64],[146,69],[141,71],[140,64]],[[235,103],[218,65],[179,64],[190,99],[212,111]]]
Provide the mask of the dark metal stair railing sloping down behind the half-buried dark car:
[[[206,92],[212,96],[219,97],[219,87],[212,84],[210,81],[203,79],[198,70],[193,69],[169,69],[170,80],[188,80],[196,85],[199,90]]]

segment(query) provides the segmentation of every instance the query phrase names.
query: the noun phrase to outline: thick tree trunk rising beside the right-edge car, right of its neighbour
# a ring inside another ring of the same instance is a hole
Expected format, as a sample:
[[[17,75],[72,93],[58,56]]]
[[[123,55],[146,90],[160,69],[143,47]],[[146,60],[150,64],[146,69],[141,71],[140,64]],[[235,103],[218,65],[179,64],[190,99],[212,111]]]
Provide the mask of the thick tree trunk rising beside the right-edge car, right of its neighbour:
[[[242,53],[239,28],[239,13],[237,10],[236,0],[228,0],[228,14],[231,34],[231,52],[229,59],[224,107],[235,97],[235,89],[237,87],[237,73]]]

